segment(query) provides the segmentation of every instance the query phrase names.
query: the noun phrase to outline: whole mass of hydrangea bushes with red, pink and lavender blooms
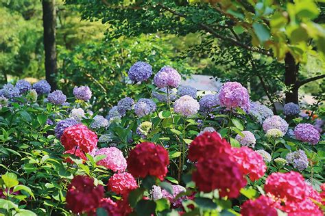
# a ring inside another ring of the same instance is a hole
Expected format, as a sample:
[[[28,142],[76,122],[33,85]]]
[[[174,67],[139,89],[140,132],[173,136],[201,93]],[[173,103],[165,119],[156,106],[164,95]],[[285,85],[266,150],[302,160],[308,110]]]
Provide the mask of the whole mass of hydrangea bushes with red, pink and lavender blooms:
[[[320,118],[274,116],[237,82],[198,96],[169,66],[128,73],[146,91],[110,110],[86,86],[3,86],[0,214],[323,215]]]

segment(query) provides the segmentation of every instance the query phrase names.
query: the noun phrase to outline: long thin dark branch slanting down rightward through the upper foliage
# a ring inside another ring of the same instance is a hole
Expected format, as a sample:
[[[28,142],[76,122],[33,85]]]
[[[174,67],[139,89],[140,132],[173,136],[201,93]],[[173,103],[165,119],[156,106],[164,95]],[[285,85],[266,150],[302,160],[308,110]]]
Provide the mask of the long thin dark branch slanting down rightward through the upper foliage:
[[[176,16],[180,16],[183,18],[186,18],[187,16],[185,14],[181,14],[179,12],[176,12],[174,10],[172,10],[171,8],[166,7],[165,5],[158,3],[158,5],[160,5],[161,8],[167,10],[168,12],[171,12],[171,14],[174,14]],[[246,44],[242,44],[241,42],[239,42],[238,40],[234,39],[234,38],[228,38],[226,36],[222,36],[221,34],[217,33],[217,31],[215,31],[212,27],[205,25],[204,23],[196,23],[197,25],[199,25],[200,27],[202,27],[202,29],[206,30],[207,32],[211,33],[213,36],[215,36],[215,38],[219,38],[221,40],[227,40],[228,42],[234,44],[235,46],[239,46],[243,49],[247,49],[249,51],[253,51],[256,53],[261,53],[263,55],[268,55],[272,57],[272,53],[270,53],[269,51],[266,51],[265,49],[256,49],[252,46],[248,46]]]

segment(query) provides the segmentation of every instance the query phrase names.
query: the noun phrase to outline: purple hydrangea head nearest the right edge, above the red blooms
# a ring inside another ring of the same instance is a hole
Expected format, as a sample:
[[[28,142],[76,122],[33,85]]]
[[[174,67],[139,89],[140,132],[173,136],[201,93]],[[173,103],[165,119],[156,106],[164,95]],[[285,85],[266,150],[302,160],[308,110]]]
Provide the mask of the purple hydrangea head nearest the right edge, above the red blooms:
[[[316,145],[320,141],[320,133],[312,124],[298,124],[295,128],[296,139]]]

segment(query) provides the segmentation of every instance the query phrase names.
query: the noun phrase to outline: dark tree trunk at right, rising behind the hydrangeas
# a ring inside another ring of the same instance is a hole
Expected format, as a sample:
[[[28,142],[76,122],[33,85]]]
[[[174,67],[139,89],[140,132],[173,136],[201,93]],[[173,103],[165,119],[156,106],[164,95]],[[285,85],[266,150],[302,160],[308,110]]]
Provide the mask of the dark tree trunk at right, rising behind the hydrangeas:
[[[285,103],[293,102],[298,104],[298,71],[299,64],[296,64],[291,53],[285,55],[285,85],[287,93],[285,94]]]

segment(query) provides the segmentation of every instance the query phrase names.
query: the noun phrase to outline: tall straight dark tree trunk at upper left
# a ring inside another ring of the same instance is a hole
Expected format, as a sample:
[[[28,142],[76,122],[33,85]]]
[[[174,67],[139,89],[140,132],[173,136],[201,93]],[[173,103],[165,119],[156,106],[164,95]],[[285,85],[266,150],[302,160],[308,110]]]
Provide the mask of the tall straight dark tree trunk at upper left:
[[[56,89],[56,1],[43,0],[43,28],[45,49],[45,77],[52,87]]]

